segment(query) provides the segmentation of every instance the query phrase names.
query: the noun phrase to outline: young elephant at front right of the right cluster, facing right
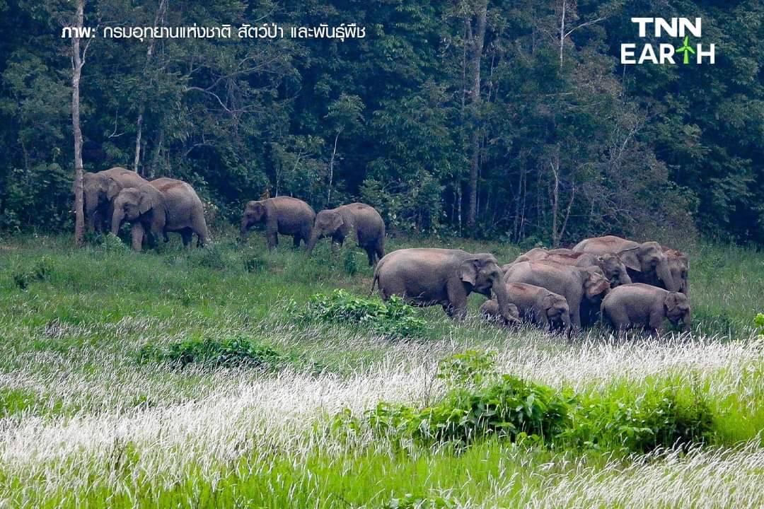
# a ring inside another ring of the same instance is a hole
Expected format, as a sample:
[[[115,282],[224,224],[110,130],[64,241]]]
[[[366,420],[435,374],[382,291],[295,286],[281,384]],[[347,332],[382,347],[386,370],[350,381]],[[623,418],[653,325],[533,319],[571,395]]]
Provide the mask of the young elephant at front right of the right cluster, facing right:
[[[616,330],[639,327],[656,333],[663,332],[666,318],[672,324],[690,330],[690,301],[680,292],[668,292],[644,283],[620,285],[610,290],[601,305],[602,320]]]

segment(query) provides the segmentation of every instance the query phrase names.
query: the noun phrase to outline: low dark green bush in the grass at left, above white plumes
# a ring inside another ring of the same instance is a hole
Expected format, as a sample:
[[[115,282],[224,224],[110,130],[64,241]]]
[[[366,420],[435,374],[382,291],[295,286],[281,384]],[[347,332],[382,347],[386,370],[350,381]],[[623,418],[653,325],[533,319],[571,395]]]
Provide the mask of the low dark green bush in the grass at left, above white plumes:
[[[270,346],[238,335],[225,340],[185,340],[167,345],[148,343],[138,352],[138,362],[167,362],[181,367],[199,363],[209,368],[248,367],[279,369],[292,362]]]

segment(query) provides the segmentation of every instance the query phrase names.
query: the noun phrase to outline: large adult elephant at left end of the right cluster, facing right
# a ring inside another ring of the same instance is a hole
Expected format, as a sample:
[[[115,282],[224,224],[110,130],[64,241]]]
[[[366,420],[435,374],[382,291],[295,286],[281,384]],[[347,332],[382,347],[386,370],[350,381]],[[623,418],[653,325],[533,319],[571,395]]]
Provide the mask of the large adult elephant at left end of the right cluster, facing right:
[[[441,305],[449,317],[459,320],[467,314],[468,295],[477,292],[490,298],[494,292],[504,320],[518,322],[492,254],[436,248],[393,251],[377,263],[372,292],[377,283],[385,300],[397,295],[419,306]]]

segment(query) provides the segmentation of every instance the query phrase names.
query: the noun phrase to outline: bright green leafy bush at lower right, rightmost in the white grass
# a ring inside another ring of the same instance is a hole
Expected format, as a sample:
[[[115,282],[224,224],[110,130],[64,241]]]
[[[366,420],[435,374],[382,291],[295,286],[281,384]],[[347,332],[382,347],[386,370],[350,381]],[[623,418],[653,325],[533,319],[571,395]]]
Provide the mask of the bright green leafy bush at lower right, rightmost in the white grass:
[[[669,387],[636,396],[626,392],[620,398],[597,395],[581,404],[575,426],[564,434],[571,445],[646,453],[704,443],[712,428],[706,401]]]

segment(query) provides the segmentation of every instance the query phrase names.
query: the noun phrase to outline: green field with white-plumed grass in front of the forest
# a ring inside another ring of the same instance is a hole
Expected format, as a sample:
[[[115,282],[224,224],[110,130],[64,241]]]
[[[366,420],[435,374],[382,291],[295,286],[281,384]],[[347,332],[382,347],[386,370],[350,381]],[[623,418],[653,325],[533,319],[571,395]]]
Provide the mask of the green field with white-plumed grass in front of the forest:
[[[764,506],[761,253],[686,248],[689,337],[595,328],[568,342],[429,308],[414,311],[423,336],[393,340],[366,322],[296,319],[313,294],[367,295],[361,251],[323,244],[307,259],[286,239],[275,253],[260,234],[217,239],[141,254],[113,238],[0,239],[0,507]],[[520,253],[413,238],[387,250],[422,245]],[[194,362],[192,347],[223,361]],[[370,424],[381,401],[448,401],[439,362],[467,351],[492,356],[489,377],[574,395],[568,433],[460,445]],[[702,440],[633,447],[654,434],[640,423],[675,431],[681,411],[707,418]]]

